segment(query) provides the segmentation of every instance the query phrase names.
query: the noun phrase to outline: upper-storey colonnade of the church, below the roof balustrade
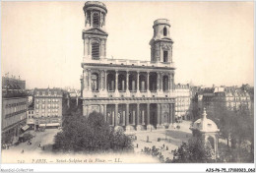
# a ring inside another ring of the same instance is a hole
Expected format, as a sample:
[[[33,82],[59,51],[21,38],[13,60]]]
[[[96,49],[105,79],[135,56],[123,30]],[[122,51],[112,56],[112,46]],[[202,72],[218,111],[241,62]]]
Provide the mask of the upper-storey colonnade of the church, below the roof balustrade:
[[[147,92],[174,89],[172,73],[149,71],[84,70],[84,88],[91,91]]]

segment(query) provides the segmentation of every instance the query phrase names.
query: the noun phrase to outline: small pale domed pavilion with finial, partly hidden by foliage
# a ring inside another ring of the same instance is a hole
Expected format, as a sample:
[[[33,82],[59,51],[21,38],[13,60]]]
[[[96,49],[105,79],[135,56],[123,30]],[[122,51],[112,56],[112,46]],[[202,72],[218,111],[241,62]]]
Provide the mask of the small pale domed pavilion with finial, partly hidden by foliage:
[[[210,119],[208,119],[206,113],[206,108],[204,108],[204,112],[202,114],[202,118],[198,119],[193,123],[190,130],[193,133],[194,138],[200,138],[205,142],[209,142],[214,149],[214,159],[216,159],[218,155],[218,143],[219,143],[219,132],[216,123]]]

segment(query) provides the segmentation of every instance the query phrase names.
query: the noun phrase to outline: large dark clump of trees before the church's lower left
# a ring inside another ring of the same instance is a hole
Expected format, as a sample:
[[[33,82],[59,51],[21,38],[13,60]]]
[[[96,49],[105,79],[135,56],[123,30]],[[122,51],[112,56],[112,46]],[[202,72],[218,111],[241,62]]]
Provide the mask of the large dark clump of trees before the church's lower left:
[[[100,113],[89,117],[67,116],[62,132],[55,136],[53,149],[57,151],[102,152],[132,150],[130,138],[121,131],[114,131]]]

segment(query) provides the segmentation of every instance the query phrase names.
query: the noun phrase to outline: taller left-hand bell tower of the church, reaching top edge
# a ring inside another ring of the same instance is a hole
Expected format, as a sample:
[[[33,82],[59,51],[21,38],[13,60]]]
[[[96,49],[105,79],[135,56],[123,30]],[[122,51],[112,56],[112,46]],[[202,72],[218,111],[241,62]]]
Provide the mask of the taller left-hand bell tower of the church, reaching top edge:
[[[85,12],[84,62],[105,58],[107,32],[105,31],[105,16],[107,13],[103,3],[89,1],[83,8]]]

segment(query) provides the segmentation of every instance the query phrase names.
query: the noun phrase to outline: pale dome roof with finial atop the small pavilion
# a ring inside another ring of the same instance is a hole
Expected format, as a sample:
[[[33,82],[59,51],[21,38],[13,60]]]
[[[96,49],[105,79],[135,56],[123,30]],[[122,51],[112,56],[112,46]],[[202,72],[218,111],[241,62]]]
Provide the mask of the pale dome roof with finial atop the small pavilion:
[[[216,123],[210,119],[208,119],[206,113],[206,108],[204,108],[204,113],[202,115],[202,118],[198,119],[193,123],[193,126],[190,128],[191,130],[198,130],[200,132],[206,133],[206,132],[219,132],[220,129],[218,129]]]

